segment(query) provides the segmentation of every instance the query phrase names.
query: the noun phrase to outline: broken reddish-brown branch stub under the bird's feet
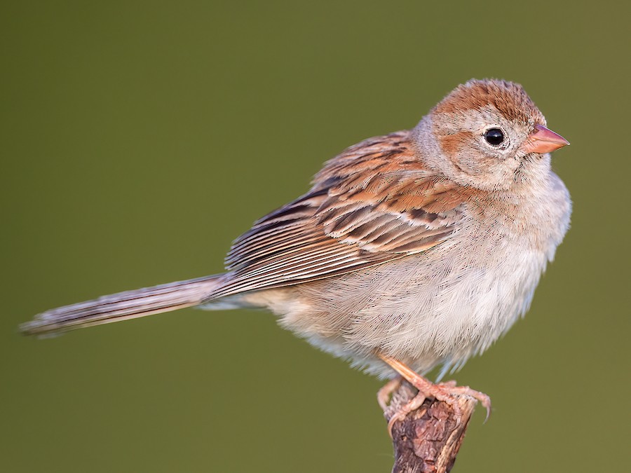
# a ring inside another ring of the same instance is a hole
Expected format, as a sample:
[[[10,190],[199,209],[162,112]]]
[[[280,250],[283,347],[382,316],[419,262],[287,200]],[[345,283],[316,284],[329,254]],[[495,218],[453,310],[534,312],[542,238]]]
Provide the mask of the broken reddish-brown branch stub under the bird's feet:
[[[384,411],[386,420],[416,396],[407,381],[401,383]],[[456,409],[446,402],[426,399],[392,428],[393,473],[446,473],[454,466],[467,424],[477,401],[459,396]]]

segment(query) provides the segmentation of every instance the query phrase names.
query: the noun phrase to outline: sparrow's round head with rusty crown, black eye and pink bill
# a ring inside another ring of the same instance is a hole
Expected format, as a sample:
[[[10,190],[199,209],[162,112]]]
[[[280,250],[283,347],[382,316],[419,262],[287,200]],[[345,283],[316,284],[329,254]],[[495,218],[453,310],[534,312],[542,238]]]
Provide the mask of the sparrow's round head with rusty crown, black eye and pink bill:
[[[423,160],[449,179],[487,191],[550,169],[545,153],[569,144],[521,85],[485,79],[459,85],[415,129]]]

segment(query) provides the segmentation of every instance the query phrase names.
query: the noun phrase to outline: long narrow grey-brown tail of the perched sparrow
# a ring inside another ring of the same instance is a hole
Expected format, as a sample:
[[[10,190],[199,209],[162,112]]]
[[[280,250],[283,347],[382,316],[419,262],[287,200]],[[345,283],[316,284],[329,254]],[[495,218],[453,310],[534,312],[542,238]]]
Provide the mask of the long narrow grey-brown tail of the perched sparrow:
[[[197,306],[219,285],[221,277],[212,275],[170,282],[47,310],[22,324],[20,330],[29,335],[55,334]]]

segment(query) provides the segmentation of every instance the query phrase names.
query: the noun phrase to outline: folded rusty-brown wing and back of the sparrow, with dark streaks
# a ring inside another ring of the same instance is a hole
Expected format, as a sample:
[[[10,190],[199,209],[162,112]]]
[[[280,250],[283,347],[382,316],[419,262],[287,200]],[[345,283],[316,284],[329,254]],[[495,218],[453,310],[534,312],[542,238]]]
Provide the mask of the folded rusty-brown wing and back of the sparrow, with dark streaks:
[[[423,252],[457,228],[468,188],[423,167],[409,132],[330,160],[311,191],[255,222],[226,258],[212,297],[332,277]]]

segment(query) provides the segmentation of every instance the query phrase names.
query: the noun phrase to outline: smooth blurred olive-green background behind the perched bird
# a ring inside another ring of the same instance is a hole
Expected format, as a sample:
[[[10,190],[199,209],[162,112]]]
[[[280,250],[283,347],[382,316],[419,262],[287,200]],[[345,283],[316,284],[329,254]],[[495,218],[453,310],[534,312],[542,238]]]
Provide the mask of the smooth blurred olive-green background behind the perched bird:
[[[628,6],[2,10],[2,471],[390,471],[381,383],[268,313],[189,309],[40,341],[17,327],[55,306],[220,272],[231,240],[306,191],[325,160],[491,76],[522,83],[572,143],[553,160],[574,215],[530,313],[456,376],[494,413],[485,425],[476,413],[454,471],[626,462]]]

